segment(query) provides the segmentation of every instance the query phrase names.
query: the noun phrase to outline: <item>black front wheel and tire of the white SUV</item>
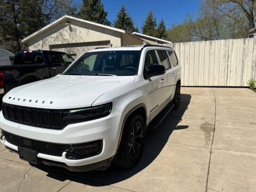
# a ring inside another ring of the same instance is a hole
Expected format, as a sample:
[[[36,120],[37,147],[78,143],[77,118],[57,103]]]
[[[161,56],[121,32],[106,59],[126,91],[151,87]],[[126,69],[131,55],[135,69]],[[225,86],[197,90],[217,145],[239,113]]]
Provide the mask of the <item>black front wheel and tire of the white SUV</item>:
[[[139,114],[127,119],[115,164],[125,169],[135,166],[142,155],[146,125]]]

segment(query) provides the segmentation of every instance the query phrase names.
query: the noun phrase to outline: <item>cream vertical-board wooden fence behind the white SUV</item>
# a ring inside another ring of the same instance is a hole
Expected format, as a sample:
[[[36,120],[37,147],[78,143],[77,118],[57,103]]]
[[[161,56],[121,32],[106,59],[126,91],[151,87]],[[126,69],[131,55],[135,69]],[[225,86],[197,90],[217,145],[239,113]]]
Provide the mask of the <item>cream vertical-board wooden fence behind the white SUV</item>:
[[[256,37],[173,43],[183,86],[248,86],[255,79]]]

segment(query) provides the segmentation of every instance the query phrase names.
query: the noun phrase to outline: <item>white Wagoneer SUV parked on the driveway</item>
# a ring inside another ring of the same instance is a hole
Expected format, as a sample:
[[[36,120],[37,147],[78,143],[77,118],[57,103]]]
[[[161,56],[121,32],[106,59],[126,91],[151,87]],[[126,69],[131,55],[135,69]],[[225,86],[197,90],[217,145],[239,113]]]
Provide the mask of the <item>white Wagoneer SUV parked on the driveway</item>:
[[[4,96],[1,142],[34,164],[130,168],[141,157],[146,131],[179,107],[180,77],[170,47],[88,51],[63,74]]]

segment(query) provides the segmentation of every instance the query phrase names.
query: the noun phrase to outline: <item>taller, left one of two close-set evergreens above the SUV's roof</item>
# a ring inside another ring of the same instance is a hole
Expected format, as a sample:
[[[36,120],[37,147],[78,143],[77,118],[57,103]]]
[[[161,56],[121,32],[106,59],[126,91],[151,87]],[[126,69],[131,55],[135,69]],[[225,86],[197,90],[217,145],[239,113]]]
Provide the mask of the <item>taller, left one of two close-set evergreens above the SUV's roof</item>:
[[[144,21],[144,25],[141,27],[142,34],[155,36],[156,35],[156,17],[154,17],[153,11],[148,12],[148,17]]]

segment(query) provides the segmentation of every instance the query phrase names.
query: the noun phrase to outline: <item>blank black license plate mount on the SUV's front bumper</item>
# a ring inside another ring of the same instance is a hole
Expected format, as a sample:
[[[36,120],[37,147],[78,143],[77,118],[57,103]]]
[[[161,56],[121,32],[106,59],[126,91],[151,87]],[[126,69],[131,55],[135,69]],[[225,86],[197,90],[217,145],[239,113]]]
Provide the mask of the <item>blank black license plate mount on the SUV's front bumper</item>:
[[[18,147],[20,159],[28,161],[30,163],[39,164],[41,159],[37,157],[38,152],[34,149],[29,149],[26,147]]]

